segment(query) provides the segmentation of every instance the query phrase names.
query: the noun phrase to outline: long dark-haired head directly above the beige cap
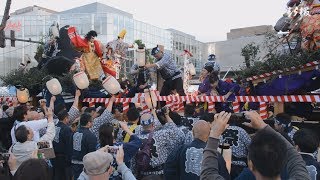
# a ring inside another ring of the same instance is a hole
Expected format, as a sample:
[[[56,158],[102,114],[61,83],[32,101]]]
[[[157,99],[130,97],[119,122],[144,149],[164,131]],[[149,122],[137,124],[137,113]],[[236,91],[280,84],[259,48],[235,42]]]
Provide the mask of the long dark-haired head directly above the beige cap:
[[[100,147],[113,146],[113,125],[104,123],[99,127]]]

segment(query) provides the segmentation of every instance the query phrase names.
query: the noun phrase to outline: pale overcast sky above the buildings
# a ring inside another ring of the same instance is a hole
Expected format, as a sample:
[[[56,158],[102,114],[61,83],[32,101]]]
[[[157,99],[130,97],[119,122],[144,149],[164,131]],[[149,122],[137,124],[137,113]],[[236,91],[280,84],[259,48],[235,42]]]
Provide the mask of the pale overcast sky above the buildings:
[[[6,0],[0,0],[3,14]],[[94,0],[12,0],[10,12],[31,5],[55,11]],[[132,13],[134,18],[160,28],[174,28],[202,42],[225,40],[230,29],[274,25],[286,11],[287,0],[98,0]]]

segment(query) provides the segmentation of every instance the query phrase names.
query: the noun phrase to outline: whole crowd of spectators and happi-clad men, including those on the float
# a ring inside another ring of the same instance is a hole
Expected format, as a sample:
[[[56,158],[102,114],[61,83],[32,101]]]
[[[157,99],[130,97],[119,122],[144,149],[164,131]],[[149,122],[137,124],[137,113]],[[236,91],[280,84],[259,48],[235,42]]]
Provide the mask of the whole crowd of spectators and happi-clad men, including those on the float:
[[[128,92],[147,88],[145,72],[157,68],[165,80],[161,95],[184,95],[170,56],[159,47],[151,54],[157,62],[133,68],[136,82]],[[199,95],[232,100],[241,87],[220,80],[211,65],[201,72]],[[0,179],[320,179],[318,135],[294,127],[285,113],[266,124],[254,110],[233,114],[228,102],[217,103],[214,113],[185,104],[179,114],[137,104],[123,112],[115,96],[105,108],[85,107],[80,97],[76,90],[69,109],[55,96],[34,106],[1,106]]]

